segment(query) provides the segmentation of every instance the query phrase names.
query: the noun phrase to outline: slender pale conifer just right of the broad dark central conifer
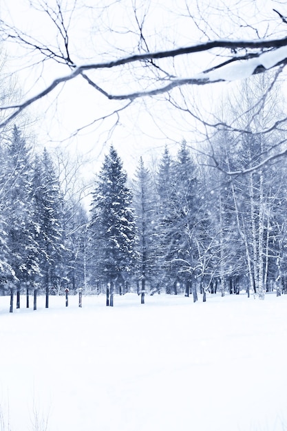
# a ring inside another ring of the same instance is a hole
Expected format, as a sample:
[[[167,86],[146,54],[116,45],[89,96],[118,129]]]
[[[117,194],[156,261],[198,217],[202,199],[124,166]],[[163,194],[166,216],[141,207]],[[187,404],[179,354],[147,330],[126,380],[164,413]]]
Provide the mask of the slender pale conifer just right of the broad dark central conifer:
[[[156,191],[149,169],[140,158],[134,178],[134,207],[137,232],[137,271],[141,282],[141,303],[145,304],[146,281],[157,282]],[[155,273],[156,272],[156,273]]]

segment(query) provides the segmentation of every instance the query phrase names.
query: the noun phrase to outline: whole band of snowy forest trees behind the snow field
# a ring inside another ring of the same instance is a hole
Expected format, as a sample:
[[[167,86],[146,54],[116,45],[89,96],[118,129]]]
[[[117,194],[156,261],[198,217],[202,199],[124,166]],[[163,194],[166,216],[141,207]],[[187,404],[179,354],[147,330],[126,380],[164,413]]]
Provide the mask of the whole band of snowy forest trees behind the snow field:
[[[145,293],[285,292],[287,161],[272,159],[284,131],[257,133],[276,98],[246,110],[250,95],[243,86],[240,115],[233,104],[240,132],[222,128],[210,143],[212,164],[182,140],[156,168],[140,158],[127,178],[111,145],[89,211],[65,196],[49,151],[35,156],[15,125],[0,147],[1,294],[17,293],[20,306],[20,293],[45,293],[48,306],[50,294],[79,288],[107,293],[109,305],[128,291],[142,303]]]

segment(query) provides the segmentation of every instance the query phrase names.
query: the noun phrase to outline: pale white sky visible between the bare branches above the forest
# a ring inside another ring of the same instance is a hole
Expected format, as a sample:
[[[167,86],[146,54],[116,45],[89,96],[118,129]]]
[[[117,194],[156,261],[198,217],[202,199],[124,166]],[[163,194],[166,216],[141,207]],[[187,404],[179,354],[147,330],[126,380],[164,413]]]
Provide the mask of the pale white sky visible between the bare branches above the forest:
[[[41,0],[33,3],[39,6]],[[65,0],[62,3],[71,7],[74,1]],[[107,6],[109,3],[113,2],[99,0],[96,2],[98,9],[90,9],[89,6],[95,5],[94,1],[76,1],[77,8],[72,15],[69,29],[72,57],[76,63],[110,60],[134,51],[133,47],[138,42],[138,36],[135,35],[137,29],[132,9],[133,2],[131,0],[114,2],[111,8],[99,14],[100,7]],[[200,28],[196,27],[191,17],[187,17],[186,3],[189,5],[191,15],[197,19],[197,23],[200,23]],[[204,39],[204,34],[209,34],[214,39],[256,37],[255,31],[248,27],[247,23],[256,25],[259,36],[263,37],[266,36],[267,29],[268,32],[280,30],[280,26],[272,28],[272,22],[270,23],[270,17],[274,17],[275,24],[278,24],[273,8],[282,14],[284,12],[287,14],[285,1],[231,0],[226,3],[221,0],[216,2],[206,0],[199,2],[200,10],[196,3],[196,1],[177,1],[175,8],[173,1],[134,0],[139,11],[138,19],[147,12],[144,34],[149,50],[191,45]],[[54,0],[48,0],[47,4],[55,10]],[[227,6],[229,10],[226,10]],[[50,19],[43,12],[34,10],[28,0],[0,0],[0,13],[2,18],[21,28],[25,33],[33,35],[36,40],[56,45],[56,32]],[[202,14],[202,17],[199,14]],[[67,17],[69,14],[65,18]],[[115,31],[111,32],[110,28]],[[134,33],[127,32],[127,28]],[[24,51],[15,45],[4,45],[4,48],[9,59],[6,70],[18,72],[17,80],[24,99],[43,90],[54,78],[69,72],[67,67],[52,61],[45,65],[43,63],[34,65],[37,59],[35,53],[32,56],[24,56]],[[181,76],[193,76],[204,67],[211,65],[212,61],[211,56],[198,55],[192,61],[186,58],[176,59],[174,67]],[[165,61],[162,65],[170,67],[171,62]],[[136,73],[140,74],[138,78],[143,80],[142,85],[144,85],[145,76],[141,75],[141,70]],[[92,74],[92,77],[94,75]],[[96,79],[107,91],[115,93],[132,91],[138,86],[138,81],[132,79],[129,74],[129,68],[125,69],[124,75],[118,75],[118,71],[100,72]],[[229,87],[232,88],[232,85]],[[200,110],[206,109],[209,112],[215,108],[221,90],[221,85],[209,85],[200,89],[186,87],[183,91],[188,107],[193,109],[196,104]],[[228,92],[228,85],[224,85],[224,91],[226,90]],[[177,90],[172,92],[172,96],[176,94]],[[95,118],[108,114],[124,104],[125,102],[107,101],[87,83],[83,83],[83,80],[76,78],[61,87],[61,92],[56,90],[36,103],[29,114],[30,118],[34,116],[39,118],[34,125],[34,130],[36,137],[39,136],[37,140],[40,145],[46,145],[49,148],[63,140],[62,147],[68,147],[69,151],[75,154],[80,151],[88,158],[89,173],[98,169],[103,161],[103,154],[107,152],[107,147],[111,143],[123,158],[125,169],[129,174],[133,174],[140,156],[149,162],[151,158],[156,158],[156,154],[162,152],[167,143],[171,145],[171,151],[175,152],[178,148],[176,142],[180,143],[182,138],[191,145],[194,145],[196,140],[202,139],[196,130],[200,125],[195,124],[191,116],[171,109],[165,96],[134,102],[130,108],[120,114],[120,123],[116,129],[113,129],[116,120],[114,117],[84,129],[74,138],[70,137],[76,129],[92,123]],[[111,129],[113,129],[112,134]]]

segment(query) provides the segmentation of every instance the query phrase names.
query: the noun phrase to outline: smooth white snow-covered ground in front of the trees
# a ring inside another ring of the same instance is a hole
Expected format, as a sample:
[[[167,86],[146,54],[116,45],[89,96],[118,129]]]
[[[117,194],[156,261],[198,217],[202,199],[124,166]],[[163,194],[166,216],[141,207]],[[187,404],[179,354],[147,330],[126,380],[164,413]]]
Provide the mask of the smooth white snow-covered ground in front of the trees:
[[[287,295],[114,305],[0,297],[1,431],[287,430]]]

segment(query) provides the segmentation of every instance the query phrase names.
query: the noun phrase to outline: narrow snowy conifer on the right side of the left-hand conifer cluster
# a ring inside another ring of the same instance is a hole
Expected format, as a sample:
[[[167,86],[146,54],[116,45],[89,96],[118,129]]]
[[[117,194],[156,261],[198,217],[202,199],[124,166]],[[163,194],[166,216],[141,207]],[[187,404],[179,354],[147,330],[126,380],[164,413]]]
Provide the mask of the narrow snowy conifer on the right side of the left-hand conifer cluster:
[[[47,150],[34,159],[33,178],[34,238],[38,244],[41,278],[49,306],[49,288],[58,288],[63,282],[63,198],[59,179]]]

